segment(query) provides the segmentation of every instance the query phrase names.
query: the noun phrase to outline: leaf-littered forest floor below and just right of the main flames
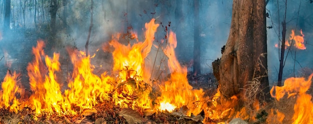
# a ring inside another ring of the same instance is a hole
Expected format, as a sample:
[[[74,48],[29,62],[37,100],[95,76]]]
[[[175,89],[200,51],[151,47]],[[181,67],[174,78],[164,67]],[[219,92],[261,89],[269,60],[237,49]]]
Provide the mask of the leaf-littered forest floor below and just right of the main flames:
[[[215,78],[211,73],[187,75],[193,88],[202,88],[205,95],[212,96],[216,92]],[[197,82],[195,82],[197,80]],[[85,109],[77,115],[40,115],[36,116],[30,108],[23,108],[17,113],[0,109],[0,123],[202,123],[204,113],[185,116],[179,112],[138,112],[129,108],[113,105],[111,101],[98,103],[94,109]]]

